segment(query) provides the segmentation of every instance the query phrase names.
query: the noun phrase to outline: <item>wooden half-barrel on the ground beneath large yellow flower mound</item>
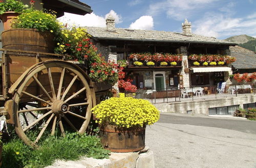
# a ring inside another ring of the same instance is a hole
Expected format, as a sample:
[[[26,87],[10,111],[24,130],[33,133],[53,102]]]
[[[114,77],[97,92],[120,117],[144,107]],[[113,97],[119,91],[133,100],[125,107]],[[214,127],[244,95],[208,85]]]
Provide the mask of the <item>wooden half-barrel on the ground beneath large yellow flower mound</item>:
[[[112,152],[140,151],[145,148],[145,128],[120,130],[114,125],[101,127],[101,144]]]

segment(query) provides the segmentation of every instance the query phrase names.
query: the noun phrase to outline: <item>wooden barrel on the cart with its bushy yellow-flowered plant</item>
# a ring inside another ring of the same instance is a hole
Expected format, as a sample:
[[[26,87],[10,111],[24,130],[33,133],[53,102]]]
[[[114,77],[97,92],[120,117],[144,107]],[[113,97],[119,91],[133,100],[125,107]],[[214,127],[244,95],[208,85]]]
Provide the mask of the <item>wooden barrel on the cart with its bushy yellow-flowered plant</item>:
[[[60,34],[55,13],[35,10],[33,7],[17,16],[11,26],[13,29],[2,33],[3,48],[6,49],[53,52],[54,36]],[[12,39],[20,39],[20,43],[13,44]]]

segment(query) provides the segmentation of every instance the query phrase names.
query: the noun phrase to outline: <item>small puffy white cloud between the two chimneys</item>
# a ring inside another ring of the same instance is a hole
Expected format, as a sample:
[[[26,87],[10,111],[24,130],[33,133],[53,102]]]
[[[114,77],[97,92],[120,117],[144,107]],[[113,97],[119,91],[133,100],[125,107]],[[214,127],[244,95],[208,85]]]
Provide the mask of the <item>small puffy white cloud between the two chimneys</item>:
[[[135,22],[132,22],[129,29],[153,30],[154,21],[152,16],[141,16]]]

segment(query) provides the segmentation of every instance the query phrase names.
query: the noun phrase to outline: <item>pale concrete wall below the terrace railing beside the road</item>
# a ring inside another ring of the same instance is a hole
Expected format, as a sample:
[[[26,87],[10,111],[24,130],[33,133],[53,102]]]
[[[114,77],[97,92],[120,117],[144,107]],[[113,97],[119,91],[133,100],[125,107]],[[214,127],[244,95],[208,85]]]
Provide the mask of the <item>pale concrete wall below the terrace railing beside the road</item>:
[[[154,104],[163,113],[184,113],[192,110],[192,114],[208,115],[208,108],[239,105],[256,102],[256,95],[238,95],[238,97],[224,97],[208,100],[182,101]]]

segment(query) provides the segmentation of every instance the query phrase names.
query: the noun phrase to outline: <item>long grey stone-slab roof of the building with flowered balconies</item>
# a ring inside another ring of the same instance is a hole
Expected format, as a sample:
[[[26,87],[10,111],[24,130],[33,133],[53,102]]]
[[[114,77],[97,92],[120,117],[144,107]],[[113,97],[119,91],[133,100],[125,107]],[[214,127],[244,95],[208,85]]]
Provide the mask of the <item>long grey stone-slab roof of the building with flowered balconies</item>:
[[[105,27],[85,27],[90,35],[99,40],[124,40],[124,41],[150,41],[150,42],[176,42],[176,43],[207,43],[237,45],[233,42],[218,40],[214,37],[204,37],[195,34],[184,35],[182,33],[132,30],[114,28],[107,30]]]

